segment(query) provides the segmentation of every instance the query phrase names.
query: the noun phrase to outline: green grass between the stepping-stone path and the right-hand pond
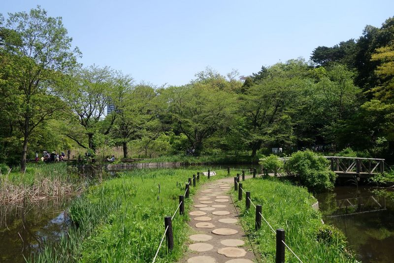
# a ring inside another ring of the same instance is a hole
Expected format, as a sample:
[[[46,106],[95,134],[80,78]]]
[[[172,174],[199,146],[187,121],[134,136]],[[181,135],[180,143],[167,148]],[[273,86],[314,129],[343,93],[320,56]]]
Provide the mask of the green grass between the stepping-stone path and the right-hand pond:
[[[346,249],[343,233],[330,225],[322,224],[322,216],[311,205],[316,199],[306,188],[296,187],[278,179],[249,179],[243,182],[243,189],[251,192],[255,205],[262,205],[262,215],[274,228],[285,229],[286,244],[302,262],[308,263],[354,263],[357,262]],[[275,234],[262,220],[259,231],[255,231],[255,208],[245,209],[245,199],[238,201],[238,194],[232,192],[240,209],[240,221],[245,233],[256,246],[263,262],[275,261]],[[245,197],[243,197],[245,198]],[[286,249],[286,262],[298,260]]]

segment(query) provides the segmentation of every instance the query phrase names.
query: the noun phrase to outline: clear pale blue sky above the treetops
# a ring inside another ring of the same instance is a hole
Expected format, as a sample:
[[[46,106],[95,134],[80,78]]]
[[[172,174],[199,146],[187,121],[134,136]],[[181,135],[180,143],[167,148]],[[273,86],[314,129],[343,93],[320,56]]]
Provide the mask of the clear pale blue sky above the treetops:
[[[394,15],[394,0],[1,0],[0,12],[37,4],[62,16],[85,66],[136,81],[181,85],[210,66],[241,75],[358,38]]]

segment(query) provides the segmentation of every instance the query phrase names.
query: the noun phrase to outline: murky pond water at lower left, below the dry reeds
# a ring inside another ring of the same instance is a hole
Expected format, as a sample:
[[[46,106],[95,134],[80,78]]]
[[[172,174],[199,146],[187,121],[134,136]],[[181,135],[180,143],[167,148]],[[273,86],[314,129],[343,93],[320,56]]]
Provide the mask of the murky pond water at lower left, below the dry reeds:
[[[66,230],[67,201],[41,200],[0,208],[0,261],[25,262],[47,240],[59,240]]]

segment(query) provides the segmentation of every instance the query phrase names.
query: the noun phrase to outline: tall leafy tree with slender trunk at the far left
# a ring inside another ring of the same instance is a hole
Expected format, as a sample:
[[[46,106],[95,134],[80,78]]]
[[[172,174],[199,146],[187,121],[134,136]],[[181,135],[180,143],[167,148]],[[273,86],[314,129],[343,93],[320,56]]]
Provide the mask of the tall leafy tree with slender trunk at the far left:
[[[15,126],[23,135],[21,170],[26,167],[26,155],[35,128],[52,117],[61,101],[53,93],[61,73],[76,63],[77,48],[71,49],[61,17],[48,17],[39,6],[29,13],[9,14],[0,20],[0,52],[6,58],[6,75],[13,83]]]

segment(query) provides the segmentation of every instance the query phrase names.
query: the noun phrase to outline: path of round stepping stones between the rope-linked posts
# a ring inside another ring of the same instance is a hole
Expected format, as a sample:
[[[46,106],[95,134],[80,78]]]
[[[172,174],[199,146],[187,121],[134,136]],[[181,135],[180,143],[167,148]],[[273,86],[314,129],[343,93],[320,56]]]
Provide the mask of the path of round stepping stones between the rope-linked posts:
[[[255,257],[245,247],[244,233],[228,192],[233,178],[207,183],[194,196],[189,225],[195,230],[190,252],[180,261],[187,263],[253,263]]]

